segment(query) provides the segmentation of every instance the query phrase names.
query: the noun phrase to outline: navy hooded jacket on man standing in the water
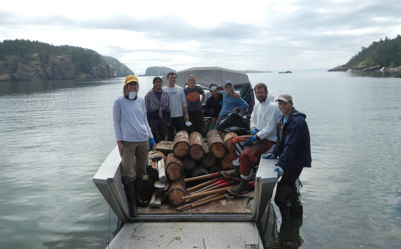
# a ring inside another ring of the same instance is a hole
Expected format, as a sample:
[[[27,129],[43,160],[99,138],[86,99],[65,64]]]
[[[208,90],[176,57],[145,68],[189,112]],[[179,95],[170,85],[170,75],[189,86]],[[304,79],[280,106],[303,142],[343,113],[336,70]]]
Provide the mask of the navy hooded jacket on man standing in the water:
[[[277,142],[272,152],[275,156],[279,156],[277,164],[284,172],[289,168],[310,168],[311,142],[305,121],[306,115],[293,107],[284,125],[283,119],[284,116],[277,125]]]

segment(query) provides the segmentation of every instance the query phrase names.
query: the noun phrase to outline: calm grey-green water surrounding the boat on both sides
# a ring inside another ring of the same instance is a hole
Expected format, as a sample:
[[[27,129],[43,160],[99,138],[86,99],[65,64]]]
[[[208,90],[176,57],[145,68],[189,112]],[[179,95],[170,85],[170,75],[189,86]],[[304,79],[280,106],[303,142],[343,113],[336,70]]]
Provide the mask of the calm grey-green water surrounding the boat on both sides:
[[[152,78],[139,78],[141,96]],[[290,92],[307,115],[313,162],[300,177],[300,247],[400,248],[401,79],[345,72],[249,79],[276,97]],[[112,104],[122,85],[122,78],[0,83],[0,248],[106,247],[109,207],[92,177],[115,146]],[[116,224],[111,211],[110,231]],[[271,235],[266,245],[282,247]]]

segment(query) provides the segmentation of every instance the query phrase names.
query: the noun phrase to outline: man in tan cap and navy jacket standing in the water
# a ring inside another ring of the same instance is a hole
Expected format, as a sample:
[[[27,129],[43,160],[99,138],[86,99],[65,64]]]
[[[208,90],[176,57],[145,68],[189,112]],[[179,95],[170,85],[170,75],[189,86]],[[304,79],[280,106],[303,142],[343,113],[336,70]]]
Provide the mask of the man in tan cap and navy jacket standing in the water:
[[[277,183],[274,203],[280,209],[282,221],[285,222],[291,217],[302,217],[303,208],[296,182],[300,184],[299,175],[304,167],[311,167],[312,158],[306,115],[293,107],[292,96],[288,93],[280,94],[277,101],[283,114],[277,125],[277,141],[273,152],[263,158],[279,157],[274,171],[278,178],[282,178]]]

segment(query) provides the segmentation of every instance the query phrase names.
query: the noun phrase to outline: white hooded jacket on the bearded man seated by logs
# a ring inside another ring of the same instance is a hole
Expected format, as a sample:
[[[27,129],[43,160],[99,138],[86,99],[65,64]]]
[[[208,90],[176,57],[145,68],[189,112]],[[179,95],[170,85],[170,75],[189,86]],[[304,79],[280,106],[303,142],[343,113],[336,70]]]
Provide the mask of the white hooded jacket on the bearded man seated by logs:
[[[281,112],[278,106],[271,102],[268,97],[263,103],[259,101],[255,103],[251,114],[250,127],[259,129],[256,135],[258,135],[260,139],[276,142],[276,125],[280,117]]]

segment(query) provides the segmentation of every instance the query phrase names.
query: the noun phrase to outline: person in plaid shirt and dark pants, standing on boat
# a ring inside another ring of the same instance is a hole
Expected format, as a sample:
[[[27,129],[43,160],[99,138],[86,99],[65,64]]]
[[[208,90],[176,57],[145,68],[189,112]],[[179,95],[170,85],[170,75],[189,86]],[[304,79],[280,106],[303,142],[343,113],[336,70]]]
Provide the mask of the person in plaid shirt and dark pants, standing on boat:
[[[146,114],[155,142],[166,139],[167,126],[171,124],[169,94],[162,89],[163,80],[153,79],[153,88],[145,96]]]

